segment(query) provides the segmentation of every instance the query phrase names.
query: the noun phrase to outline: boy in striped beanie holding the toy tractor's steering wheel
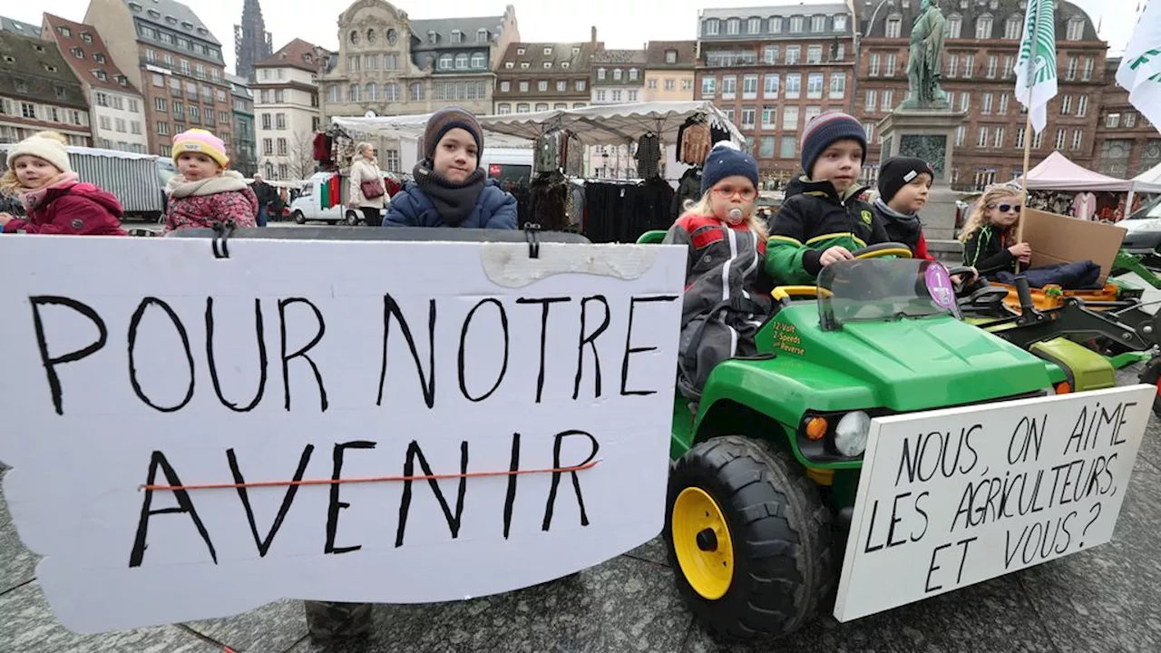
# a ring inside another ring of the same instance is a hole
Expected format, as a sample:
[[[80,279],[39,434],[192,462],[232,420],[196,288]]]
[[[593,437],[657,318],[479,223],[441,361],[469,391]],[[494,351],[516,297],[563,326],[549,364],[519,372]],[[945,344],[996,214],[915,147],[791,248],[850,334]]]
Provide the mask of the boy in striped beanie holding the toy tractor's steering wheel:
[[[882,222],[858,199],[866,159],[859,121],[827,112],[802,134],[805,175],[789,182],[770,235],[767,271],[784,284],[814,284],[823,267],[850,260],[852,250],[886,243]]]

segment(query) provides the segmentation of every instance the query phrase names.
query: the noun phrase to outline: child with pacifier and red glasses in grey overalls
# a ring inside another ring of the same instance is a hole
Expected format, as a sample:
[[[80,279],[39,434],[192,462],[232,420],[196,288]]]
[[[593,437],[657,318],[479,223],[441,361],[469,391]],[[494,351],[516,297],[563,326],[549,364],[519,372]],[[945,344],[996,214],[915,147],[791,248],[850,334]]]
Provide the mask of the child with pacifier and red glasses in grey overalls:
[[[766,228],[755,214],[758,164],[729,142],[706,158],[701,200],[665,235],[688,247],[678,388],[701,396],[709,372],[735,356],[757,353],[753,337],[770,313]]]

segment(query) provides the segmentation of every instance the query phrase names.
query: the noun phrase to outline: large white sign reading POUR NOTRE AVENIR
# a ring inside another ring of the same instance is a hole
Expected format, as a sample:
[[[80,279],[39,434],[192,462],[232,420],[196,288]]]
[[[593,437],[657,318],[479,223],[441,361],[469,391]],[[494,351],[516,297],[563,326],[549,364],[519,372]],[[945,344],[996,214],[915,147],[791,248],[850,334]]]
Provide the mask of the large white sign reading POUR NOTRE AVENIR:
[[[230,254],[0,238],[3,496],[68,629],[462,600],[661,531],[684,249]]]

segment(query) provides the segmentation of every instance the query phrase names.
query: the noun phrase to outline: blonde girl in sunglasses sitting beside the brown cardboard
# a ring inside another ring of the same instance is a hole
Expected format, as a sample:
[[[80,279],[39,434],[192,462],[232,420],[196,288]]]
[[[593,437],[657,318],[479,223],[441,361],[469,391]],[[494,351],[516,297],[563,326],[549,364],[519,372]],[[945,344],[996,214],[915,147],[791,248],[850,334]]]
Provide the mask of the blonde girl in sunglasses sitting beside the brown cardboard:
[[[1016,263],[1026,266],[1032,247],[1017,243],[1021,192],[1011,186],[991,186],[972,209],[959,235],[964,243],[964,265],[975,267],[982,277],[1015,272]]]

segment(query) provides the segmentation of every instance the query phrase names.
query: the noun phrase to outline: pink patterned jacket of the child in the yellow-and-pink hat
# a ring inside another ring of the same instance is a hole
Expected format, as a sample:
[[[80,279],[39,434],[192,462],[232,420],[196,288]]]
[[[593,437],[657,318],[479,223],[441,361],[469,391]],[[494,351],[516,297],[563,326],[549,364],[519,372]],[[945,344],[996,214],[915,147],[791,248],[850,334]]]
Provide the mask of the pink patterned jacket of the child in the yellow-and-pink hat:
[[[211,227],[232,220],[238,229],[252,228],[258,218],[258,198],[241,174],[231,170],[222,177],[186,181],[170,180],[168,217],[165,232]]]

